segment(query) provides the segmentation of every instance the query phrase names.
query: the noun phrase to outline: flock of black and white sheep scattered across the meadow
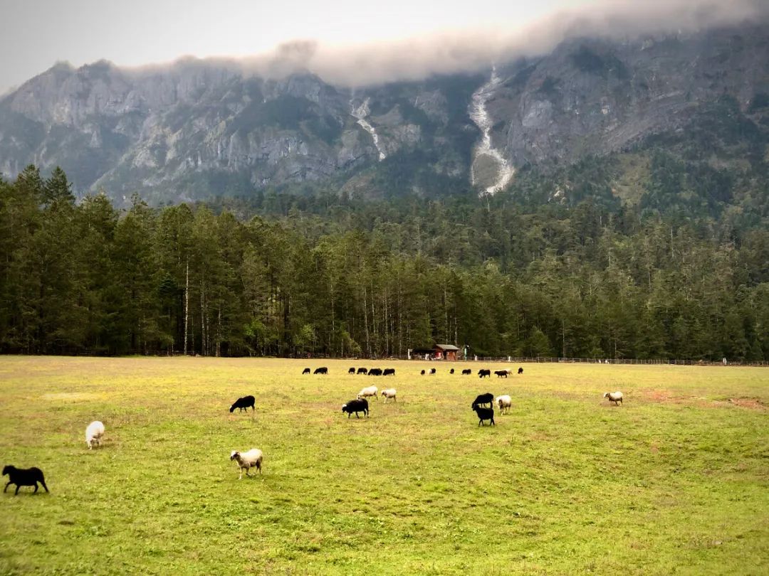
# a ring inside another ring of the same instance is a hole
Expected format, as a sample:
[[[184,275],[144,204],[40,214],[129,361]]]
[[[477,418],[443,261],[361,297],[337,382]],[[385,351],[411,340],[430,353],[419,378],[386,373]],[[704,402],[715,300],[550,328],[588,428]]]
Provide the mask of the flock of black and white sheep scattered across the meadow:
[[[523,371],[523,368],[519,368],[518,374],[522,374]],[[302,374],[309,374],[310,372],[311,370],[309,368],[305,368]],[[315,372],[313,373],[328,374],[328,368],[326,366],[321,366],[320,368],[316,368]],[[434,374],[436,373],[436,369],[432,368],[428,373]],[[454,374],[454,369],[452,368],[449,373]],[[507,378],[508,374],[511,373],[511,370],[506,369],[494,371],[494,374],[498,378]],[[358,368],[356,370],[353,367],[348,370],[348,374],[368,374],[368,376],[395,376],[395,369],[387,368],[383,371],[379,368]],[[424,376],[425,371],[422,370],[421,374]],[[462,375],[464,376],[471,374],[471,369],[462,370]],[[491,377],[491,370],[478,370],[478,377]],[[355,414],[356,418],[360,418],[359,414],[361,412],[363,413],[364,417],[368,417],[368,398],[378,399],[379,396],[383,396],[385,404],[387,403],[388,399],[394,402],[398,402],[397,393],[398,391],[394,388],[383,389],[380,392],[377,386],[366,386],[364,389],[361,389],[361,391],[358,392],[358,396],[356,396],[355,399],[349,400],[344,405],[342,405],[341,411],[346,413],[348,418],[350,418],[350,416],[353,414]],[[608,399],[609,402],[614,402],[614,406],[619,406],[622,403],[622,392],[619,390],[617,392],[605,392],[604,399]],[[512,406],[511,396],[504,394],[494,398],[494,395],[491,394],[491,392],[486,392],[485,394],[478,395],[474,399],[471,404],[471,409],[475,412],[476,415],[478,415],[478,426],[484,425],[484,422],[487,420],[489,421],[489,425],[495,425],[494,406],[498,407],[500,414],[509,413]],[[248,411],[249,408],[251,408],[251,411],[254,412],[256,410],[256,399],[254,396],[243,396],[242,398],[238,398],[235,400],[235,402],[233,402],[232,406],[230,406],[230,412],[235,412],[235,409],[238,409],[239,412],[243,410]],[[105,426],[102,422],[96,420],[95,422],[88,424],[85,429],[85,444],[88,446],[88,449],[90,450],[94,446],[101,445],[104,434]],[[251,450],[248,450],[248,452],[238,452],[238,450],[233,450],[230,454],[230,460],[237,463],[238,472],[240,472],[238,480],[240,480],[243,478],[244,470],[247,476],[250,476],[248,471],[251,468],[256,468],[261,474],[261,463],[264,460],[264,454],[260,449],[257,448],[252,448]],[[35,486],[35,492],[38,492],[38,483],[42,485],[43,488],[45,488],[45,492],[48,492],[48,486],[45,485],[45,478],[40,468],[15,468],[15,466],[6,465],[2,470],[2,475],[7,475],[9,478],[8,483],[3,489],[3,492],[8,490],[8,486],[12,484],[16,486],[15,494],[18,494],[18,488],[21,488],[22,486]]]

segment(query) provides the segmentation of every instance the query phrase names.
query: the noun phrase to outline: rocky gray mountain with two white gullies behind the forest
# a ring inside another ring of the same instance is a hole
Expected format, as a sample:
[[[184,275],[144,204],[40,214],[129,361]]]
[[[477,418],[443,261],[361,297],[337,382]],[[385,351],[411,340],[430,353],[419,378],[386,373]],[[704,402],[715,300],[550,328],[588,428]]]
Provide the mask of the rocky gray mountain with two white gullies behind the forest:
[[[528,166],[672,142],[714,107],[737,117],[738,140],[766,140],[769,27],[573,38],[487,71],[357,89],[193,59],[58,64],[0,100],[0,172],[58,165],[78,194],[118,204],[134,191],[156,204],[281,187],[493,193]]]

